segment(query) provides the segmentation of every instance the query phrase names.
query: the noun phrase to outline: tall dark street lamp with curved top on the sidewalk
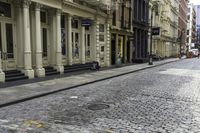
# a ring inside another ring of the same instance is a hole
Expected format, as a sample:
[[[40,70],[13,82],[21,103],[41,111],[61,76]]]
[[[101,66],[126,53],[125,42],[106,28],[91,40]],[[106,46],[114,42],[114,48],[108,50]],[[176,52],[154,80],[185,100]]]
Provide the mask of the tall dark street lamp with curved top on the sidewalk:
[[[153,11],[156,11],[156,15],[158,15],[158,4],[153,4],[152,8],[151,8],[151,40],[150,40],[150,55],[149,55],[149,65],[153,65],[153,57],[152,57],[152,41],[153,41],[153,32],[152,32],[152,28],[153,28]]]

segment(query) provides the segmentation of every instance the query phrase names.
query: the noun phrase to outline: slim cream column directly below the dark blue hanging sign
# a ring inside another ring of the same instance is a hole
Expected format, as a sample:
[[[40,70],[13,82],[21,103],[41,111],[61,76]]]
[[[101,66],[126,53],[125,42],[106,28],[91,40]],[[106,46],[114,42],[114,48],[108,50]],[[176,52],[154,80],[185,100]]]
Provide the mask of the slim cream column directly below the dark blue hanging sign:
[[[81,63],[85,64],[85,27],[81,27]]]

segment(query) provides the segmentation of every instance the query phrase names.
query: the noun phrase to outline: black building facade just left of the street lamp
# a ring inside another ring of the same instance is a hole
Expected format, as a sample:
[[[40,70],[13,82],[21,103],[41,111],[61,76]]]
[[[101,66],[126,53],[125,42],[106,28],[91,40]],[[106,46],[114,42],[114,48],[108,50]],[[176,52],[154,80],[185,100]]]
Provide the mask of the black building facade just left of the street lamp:
[[[133,2],[133,62],[148,59],[149,0]]]

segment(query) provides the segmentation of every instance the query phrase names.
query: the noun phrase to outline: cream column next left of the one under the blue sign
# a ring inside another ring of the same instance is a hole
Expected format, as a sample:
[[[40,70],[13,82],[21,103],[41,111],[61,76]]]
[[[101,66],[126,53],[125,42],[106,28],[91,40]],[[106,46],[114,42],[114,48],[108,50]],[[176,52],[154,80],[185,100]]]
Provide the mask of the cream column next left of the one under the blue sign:
[[[68,26],[67,26],[67,54],[68,54],[68,65],[72,65],[72,17],[68,14]]]

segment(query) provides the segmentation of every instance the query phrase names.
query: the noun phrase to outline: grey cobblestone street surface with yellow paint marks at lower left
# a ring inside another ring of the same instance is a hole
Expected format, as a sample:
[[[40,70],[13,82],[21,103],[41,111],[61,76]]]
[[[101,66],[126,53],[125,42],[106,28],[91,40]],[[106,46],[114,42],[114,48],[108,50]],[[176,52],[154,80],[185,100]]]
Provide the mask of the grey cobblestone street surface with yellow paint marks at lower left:
[[[199,133],[199,93],[200,60],[182,60],[1,108],[0,133]]]

